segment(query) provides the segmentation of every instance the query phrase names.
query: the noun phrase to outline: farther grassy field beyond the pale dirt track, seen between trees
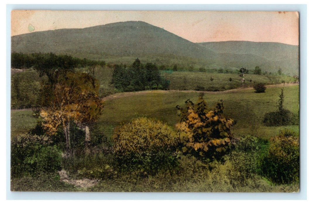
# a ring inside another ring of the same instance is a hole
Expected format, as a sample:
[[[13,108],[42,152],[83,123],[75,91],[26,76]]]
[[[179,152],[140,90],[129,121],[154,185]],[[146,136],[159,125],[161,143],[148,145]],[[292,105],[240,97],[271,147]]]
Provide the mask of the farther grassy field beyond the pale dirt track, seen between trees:
[[[96,66],[94,76],[99,81],[100,97],[105,97],[119,92],[110,84],[113,68],[108,66]],[[88,68],[79,68],[77,71],[88,72]],[[240,87],[253,87],[254,83],[281,84],[294,81],[293,77],[285,75],[254,75],[246,74],[246,82],[242,85],[238,74],[207,73],[207,72],[161,72],[165,79],[170,81],[170,90],[204,90],[223,91]],[[213,78],[211,81],[210,78]],[[39,78],[38,73],[33,69],[19,72],[12,75],[11,108],[34,107],[38,98],[41,81],[46,80],[46,76]],[[229,81],[232,78],[232,81]],[[15,83],[18,82],[18,83]],[[197,89],[201,87],[200,89]],[[17,100],[17,92],[19,100]]]

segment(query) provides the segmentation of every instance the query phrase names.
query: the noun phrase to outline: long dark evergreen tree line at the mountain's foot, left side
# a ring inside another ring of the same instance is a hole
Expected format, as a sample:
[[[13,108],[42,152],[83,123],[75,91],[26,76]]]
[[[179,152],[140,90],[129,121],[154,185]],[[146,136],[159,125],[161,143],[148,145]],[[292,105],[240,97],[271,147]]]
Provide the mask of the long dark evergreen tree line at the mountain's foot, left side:
[[[68,55],[56,55],[53,53],[12,53],[11,54],[11,67],[20,68],[30,68],[30,67],[40,67],[42,63],[48,63],[50,67],[86,67],[101,65],[104,66],[104,61],[96,61],[89,59],[79,59]]]

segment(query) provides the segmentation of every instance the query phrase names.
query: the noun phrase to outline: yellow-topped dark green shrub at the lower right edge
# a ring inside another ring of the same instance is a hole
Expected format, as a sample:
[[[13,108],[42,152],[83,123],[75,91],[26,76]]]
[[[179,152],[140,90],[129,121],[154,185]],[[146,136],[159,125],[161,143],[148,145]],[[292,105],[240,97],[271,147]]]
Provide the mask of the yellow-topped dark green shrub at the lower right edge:
[[[263,172],[276,184],[299,181],[299,137],[290,130],[282,130],[271,139]]]

